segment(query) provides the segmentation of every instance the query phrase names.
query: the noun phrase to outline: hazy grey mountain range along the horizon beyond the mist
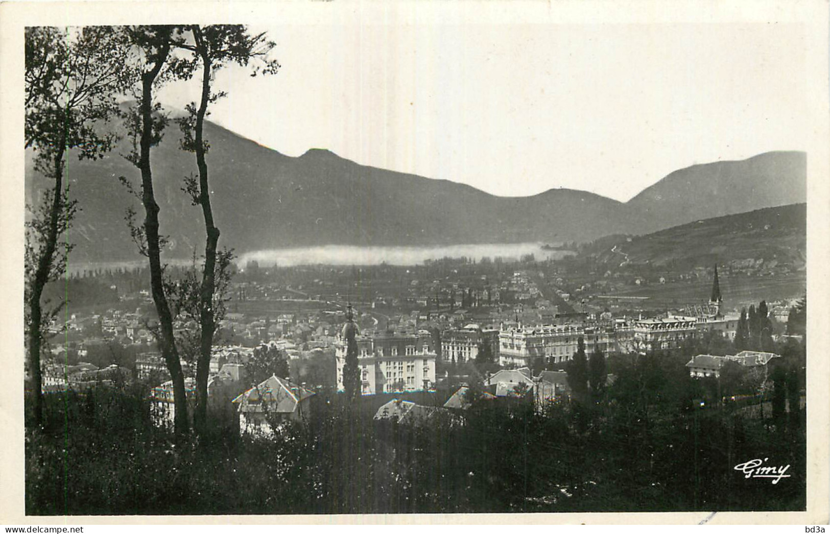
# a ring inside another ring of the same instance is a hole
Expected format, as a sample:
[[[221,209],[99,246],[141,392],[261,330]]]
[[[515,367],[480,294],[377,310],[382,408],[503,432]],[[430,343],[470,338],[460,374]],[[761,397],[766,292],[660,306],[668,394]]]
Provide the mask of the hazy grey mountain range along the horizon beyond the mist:
[[[806,201],[807,157],[763,153],[672,172],[630,201],[570,189],[532,197],[497,197],[475,187],[367,167],[325,149],[286,156],[207,123],[212,205],[221,246],[242,254],[308,245],[457,245],[593,240],[645,234],[686,222]],[[154,189],[166,255],[188,258],[203,247],[203,221],[182,191],[196,172],[171,125],[153,156]],[[139,172],[121,154],[124,141],[98,161],[67,159],[71,197],[81,212],[71,227],[71,263],[134,260],[125,210],[143,209],[120,184]],[[49,181],[27,152],[27,203]],[[549,180],[549,177],[545,177]]]

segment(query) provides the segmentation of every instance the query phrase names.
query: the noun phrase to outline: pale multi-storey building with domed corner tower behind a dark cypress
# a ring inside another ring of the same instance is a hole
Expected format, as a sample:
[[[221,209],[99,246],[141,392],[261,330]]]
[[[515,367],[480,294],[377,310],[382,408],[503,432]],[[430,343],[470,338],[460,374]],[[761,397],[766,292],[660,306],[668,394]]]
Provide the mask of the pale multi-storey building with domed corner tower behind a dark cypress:
[[[432,334],[376,333],[355,338],[363,395],[391,391],[423,391],[435,383],[435,347]],[[337,388],[343,391],[343,367],[346,343],[343,337],[334,342],[337,362]]]

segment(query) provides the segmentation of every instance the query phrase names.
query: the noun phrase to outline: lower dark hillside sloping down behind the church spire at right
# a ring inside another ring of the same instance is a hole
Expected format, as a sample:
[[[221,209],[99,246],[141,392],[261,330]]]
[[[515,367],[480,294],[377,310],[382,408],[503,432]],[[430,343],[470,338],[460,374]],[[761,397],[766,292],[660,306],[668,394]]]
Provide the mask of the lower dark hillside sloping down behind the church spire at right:
[[[640,266],[692,269],[730,265],[737,269],[803,269],[807,250],[807,205],[792,204],[691,222],[638,237],[616,236],[586,247],[610,270]]]

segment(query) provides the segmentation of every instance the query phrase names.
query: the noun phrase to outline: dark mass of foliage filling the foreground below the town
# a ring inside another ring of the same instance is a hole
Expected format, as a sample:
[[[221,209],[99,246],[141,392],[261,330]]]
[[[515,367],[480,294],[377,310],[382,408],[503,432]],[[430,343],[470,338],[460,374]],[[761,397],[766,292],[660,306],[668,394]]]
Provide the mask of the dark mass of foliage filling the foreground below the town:
[[[692,409],[691,399],[714,395],[711,385],[675,364],[665,355],[610,361],[618,378],[603,403],[537,413],[530,403],[479,402],[464,425],[374,421],[387,397],[355,405],[321,393],[307,424],[271,439],[215,429],[177,442],[150,424],[138,386],[51,395],[44,428],[27,432],[27,513],[803,509],[803,410],[790,405],[787,420],[770,421],[714,403]],[[441,402],[432,401],[417,399]],[[771,492],[735,471],[754,458],[791,464],[791,478]]]

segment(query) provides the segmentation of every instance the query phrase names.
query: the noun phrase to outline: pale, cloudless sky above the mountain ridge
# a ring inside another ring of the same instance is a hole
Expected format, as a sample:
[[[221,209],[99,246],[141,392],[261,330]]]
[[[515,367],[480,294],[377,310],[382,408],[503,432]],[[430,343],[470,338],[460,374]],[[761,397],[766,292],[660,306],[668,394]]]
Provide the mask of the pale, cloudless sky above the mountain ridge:
[[[627,201],[692,164],[807,148],[796,24],[361,21],[251,25],[281,71],[222,70],[211,119],[290,156],[328,148],[511,197]]]

